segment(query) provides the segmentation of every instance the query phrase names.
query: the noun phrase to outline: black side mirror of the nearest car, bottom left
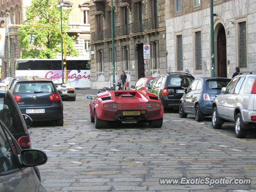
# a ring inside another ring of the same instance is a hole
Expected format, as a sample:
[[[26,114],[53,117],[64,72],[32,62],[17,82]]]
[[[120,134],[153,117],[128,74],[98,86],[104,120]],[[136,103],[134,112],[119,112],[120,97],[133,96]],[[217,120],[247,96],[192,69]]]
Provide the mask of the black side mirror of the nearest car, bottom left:
[[[33,167],[45,164],[47,161],[47,156],[45,152],[36,149],[24,149],[20,153],[22,167]]]

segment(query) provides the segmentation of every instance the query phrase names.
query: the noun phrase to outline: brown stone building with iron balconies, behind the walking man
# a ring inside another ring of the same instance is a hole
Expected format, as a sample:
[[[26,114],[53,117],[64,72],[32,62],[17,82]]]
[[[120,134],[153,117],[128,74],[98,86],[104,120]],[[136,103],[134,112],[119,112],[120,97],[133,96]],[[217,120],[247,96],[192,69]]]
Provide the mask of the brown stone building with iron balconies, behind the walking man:
[[[92,89],[113,86],[111,1],[95,0],[89,6],[91,24]],[[164,0],[115,0],[115,81],[121,71],[133,84],[138,78],[166,72]],[[144,45],[150,59],[144,60]]]

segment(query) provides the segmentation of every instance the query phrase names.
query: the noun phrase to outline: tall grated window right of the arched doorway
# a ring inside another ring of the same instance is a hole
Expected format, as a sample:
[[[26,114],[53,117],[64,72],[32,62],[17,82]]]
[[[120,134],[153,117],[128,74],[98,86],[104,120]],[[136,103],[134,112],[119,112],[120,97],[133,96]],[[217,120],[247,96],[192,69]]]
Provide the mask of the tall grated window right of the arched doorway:
[[[239,67],[247,67],[246,22],[238,23]]]

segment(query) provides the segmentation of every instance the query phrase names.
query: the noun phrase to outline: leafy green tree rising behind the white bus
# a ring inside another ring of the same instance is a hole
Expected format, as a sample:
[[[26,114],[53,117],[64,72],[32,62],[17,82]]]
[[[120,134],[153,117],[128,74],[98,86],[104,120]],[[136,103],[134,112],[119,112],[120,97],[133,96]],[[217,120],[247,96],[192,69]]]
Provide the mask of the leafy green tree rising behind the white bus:
[[[32,0],[31,6],[26,7],[26,20],[24,25],[52,26],[61,31],[60,9],[58,0]],[[62,8],[62,34],[66,43],[66,55],[78,56],[79,52],[74,46],[76,36],[68,36],[68,14],[70,9]],[[30,34],[34,34],[31,45]],[[22,58],[56,58],[61,52],[61,36],[51,28],[21,27],[19,30],[20,45],[23,48]]]

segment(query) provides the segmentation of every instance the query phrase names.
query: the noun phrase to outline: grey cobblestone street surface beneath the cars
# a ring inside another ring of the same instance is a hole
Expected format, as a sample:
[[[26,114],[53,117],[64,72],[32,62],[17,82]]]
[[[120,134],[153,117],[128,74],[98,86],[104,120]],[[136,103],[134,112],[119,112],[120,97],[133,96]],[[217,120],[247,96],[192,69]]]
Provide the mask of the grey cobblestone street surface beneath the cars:
[[[162,128],[114,123],[96,129],[89,100],[77,94],[64,101],[64,126],[40,122],[29,129],[32,148],[44,150],[40,169],[49,192],[254,192],[256,134],[234,134],[234,123],[214,130],[211,117],[181,119],[178,110],[164,113]],[[250,178],[250,185],[160,185],[160,178]]]

